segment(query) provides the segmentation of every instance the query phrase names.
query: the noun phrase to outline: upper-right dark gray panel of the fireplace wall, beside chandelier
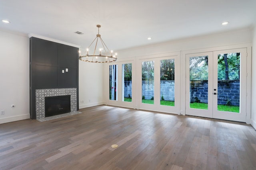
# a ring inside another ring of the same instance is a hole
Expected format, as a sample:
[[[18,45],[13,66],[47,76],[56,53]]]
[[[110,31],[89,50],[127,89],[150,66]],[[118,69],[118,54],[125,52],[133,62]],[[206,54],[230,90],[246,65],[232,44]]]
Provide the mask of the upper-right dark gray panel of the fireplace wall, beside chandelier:
[[[58,45],[58,63],[62,67],[76,67],[78,61],[78,48],[68,45]]]

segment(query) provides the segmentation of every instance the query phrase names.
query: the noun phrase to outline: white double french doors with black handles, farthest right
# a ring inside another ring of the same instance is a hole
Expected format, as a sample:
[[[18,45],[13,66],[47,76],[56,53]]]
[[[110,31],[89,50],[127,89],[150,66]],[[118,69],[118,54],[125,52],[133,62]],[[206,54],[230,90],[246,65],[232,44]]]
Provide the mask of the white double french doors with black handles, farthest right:
[[[246,48],[186,55],[186,114],[246,121]]]

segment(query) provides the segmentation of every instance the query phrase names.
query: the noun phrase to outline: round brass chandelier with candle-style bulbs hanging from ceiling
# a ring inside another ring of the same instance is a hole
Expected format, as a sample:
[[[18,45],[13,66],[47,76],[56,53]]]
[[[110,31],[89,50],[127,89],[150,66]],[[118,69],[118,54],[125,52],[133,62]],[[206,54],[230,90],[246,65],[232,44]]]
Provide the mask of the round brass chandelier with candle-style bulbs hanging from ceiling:
[[[90,62],[90,63],[110,63],[114,62],[117,59],[117,54],[113,55],[113,51],[110,51],[102,38],[100,37],[100,25],[97,25],[98,27],[98,34],[96,35],[96,38],[92,41],[92,43],[89,45],[89,47],[86,49],[85,55],[81,55],[79,52],[79,60]],[[93,54],[89,54],[90,47],[92,44],[95,43]],[[101,46],[99,45],[101,43]],[[98,47],[97,47],[98,45]],[[98,51],[98,55],[96,54],[96,50]]]

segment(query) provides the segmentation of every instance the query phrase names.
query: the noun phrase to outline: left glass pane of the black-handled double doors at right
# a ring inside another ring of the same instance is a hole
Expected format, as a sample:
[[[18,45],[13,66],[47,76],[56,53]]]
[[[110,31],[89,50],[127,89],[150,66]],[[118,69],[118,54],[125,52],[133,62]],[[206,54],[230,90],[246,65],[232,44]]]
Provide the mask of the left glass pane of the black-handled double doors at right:
[[[208,56],[190,57],[190,108],[208,109]]]

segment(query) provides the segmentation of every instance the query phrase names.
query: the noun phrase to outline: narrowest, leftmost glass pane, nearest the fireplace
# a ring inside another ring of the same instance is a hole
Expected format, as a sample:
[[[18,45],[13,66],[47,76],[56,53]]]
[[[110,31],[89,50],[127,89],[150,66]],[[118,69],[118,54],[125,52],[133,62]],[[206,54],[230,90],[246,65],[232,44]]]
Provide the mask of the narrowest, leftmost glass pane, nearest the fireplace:
[[[117,100],[117,65],[109,66],[109,100]]]

